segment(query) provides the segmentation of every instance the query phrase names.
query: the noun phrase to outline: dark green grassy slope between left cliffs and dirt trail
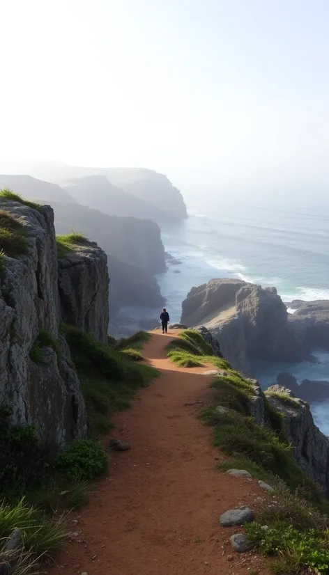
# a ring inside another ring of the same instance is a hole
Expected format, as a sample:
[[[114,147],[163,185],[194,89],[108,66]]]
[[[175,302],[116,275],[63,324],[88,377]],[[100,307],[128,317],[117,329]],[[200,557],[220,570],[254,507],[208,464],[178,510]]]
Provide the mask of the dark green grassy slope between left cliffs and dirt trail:
[[[159,372],[132,361],[128,353],[96,341],[85,331],[66,324],[61,331],[82,384],[89,430],[92,436],[105,433],[113,427],[111,413],[128,409],[137,390],[150,384]],[[135,342],[146,340],[141,333],[145,332],[139,332]],[[128,340],[134,345],[132,338]]]

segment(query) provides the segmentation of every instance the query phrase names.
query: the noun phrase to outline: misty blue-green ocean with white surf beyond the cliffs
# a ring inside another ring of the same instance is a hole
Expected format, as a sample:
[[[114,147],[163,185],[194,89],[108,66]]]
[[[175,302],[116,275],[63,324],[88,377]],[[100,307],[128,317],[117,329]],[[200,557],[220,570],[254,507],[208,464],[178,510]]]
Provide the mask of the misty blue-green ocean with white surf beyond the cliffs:
[[[309,210],[223,206],[211,214],[188,210],[189,218],[162,226],[166,251],[181,261],[160,274],[171,321],[191,287],[213,278],[241,278],[275,286],[283,301],[329,299],[329,205]],[[177,273],[179,271],[179,273]],[[302,379],[329,381],[329,354],[320,363],[270,364],[253,368],[261,385],[275,383],[280,371]],[[329,401],[311,405],[316,425],[329,436]]]

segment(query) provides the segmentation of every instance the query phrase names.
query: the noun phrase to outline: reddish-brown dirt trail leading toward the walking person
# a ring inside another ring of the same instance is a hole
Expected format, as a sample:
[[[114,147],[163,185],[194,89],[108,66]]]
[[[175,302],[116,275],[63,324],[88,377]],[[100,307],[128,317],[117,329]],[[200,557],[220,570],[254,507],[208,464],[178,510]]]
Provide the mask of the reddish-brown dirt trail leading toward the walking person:
[[[116,417],[115,434],[132,449],[113,455],[108,477],[73,517],[77,540],[64,546],[52,575],[241,575],[259,569],[253,554],[231,551],[229,536],[240,528],[221,528],[218,518],[231,507],[252,507],[263,491],[255,481],[214,470],[220,456],[211,430],[196,418],[210,378],[202,375],[207,368],[177,368],[165,358],[164,347],[177,333],[153,332],[144,346],[161,376]]]

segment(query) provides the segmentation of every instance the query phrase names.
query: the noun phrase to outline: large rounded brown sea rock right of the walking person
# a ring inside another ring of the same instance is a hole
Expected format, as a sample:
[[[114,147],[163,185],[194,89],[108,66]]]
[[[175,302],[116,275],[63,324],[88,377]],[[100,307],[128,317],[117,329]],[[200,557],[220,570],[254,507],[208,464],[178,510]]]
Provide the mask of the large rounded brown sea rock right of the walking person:
[[[192,287],[182,308],[181,321],[204,325],[219,340],[224,357],[245,374],[250,374],[250,359],[303,358],[303,345],[275,287],[263,289],[237,279],[211,280]]]

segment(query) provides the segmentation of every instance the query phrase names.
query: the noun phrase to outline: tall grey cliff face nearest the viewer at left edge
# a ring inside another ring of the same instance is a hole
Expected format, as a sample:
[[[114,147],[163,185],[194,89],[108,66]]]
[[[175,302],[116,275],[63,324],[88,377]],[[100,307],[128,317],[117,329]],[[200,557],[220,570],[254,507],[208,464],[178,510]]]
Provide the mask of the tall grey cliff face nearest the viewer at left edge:
[[[4,255],[1,267],[0,404],[12,407],[14,424],[36,425],[42,441],[66,443],[85,436],[86,413],[59,335],[54,214],[49,206],[33,210],[11,201],[0,207],[20,218],[29,240],[26,255]]]

